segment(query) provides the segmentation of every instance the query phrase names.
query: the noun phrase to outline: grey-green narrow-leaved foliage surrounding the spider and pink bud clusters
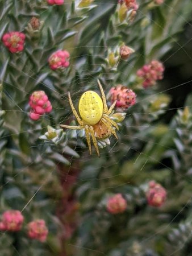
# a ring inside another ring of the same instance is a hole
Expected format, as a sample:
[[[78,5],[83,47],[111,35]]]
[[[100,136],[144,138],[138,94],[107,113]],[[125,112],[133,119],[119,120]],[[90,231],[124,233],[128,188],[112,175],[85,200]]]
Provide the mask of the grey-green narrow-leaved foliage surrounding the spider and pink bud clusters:
[[[24,215],[22,231],[1,233],[1,255],[191,255],[191,1],[138,3],[135,19],[120,22],[115,0],[84,9],[69,0],[59,6],[0,0],[1,37],[27,36],[22,53],[0,44],[0,209]],[[33,16],[43,21],[35,32],[28,27]],[[108,56],[118,56],[122,43],[135,53],[112,67]],[[70,52],[64,71],[48,67],[57,49]],[[144,90],[136,71],[153,59],[164,63],[164,80]],[[84,133],[59,126],[74,123],[67,92],[77,106],[83,92],[98,91],[98,78],[106,94],[116,84],[137,94],[118,142],[110,138],[101,158],[89,155]],[[35,90],[44,90],[53,106],[39,121],[28,117]],[[53,139],[46,137],[48,125],[56,129]],[[150,180],[168,193],[161,208],[147,204]],[[128,207],[112,215],[106,204],[115,193]],[[49,228],[45,243],[26,237],[35,218]]]

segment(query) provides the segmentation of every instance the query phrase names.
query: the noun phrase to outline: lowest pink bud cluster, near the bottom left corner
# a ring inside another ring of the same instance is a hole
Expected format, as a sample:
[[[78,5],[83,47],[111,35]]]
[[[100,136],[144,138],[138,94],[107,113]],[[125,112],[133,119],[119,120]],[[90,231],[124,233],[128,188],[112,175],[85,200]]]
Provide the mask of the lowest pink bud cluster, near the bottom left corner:
[[[46,241],[48,228],[45,225],[44,220],[31,221],[27,225],[27,230],[27,235],[29,238],[39,240],[40,242]]]

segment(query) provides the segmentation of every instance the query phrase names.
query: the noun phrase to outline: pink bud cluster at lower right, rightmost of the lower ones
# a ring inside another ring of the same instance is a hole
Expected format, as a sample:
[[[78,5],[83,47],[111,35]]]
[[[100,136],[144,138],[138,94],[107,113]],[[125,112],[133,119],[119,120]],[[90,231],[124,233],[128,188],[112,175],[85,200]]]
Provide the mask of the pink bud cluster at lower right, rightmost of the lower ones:
[[[149,189],[146,193],[149,205],[153,207],[161,207],[166,200],[166,190],[161,184],[156,183],[154,180],[149,182]]]

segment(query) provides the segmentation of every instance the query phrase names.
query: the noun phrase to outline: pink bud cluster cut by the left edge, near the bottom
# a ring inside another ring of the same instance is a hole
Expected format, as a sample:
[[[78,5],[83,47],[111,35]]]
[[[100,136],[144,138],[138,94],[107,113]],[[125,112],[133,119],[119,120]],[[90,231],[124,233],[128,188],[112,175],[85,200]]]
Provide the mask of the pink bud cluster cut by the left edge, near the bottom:
[[[23,220],[23,215],[19,210],[6,210],[2,215],[0,229],[12,232],[19,231],[22,228]]]

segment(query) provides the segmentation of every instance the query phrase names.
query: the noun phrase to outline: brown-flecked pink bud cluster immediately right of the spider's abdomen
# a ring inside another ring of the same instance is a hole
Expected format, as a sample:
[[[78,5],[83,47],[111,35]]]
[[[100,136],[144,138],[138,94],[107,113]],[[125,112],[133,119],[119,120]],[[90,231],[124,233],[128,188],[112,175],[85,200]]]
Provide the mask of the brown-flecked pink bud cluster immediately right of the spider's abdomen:
[[[136,103],[136,94],[131,89],[121,84],[110,89],[108,98],[110,98],[112,103],[116,101],[115,106],[122,109],[127,109]]]

